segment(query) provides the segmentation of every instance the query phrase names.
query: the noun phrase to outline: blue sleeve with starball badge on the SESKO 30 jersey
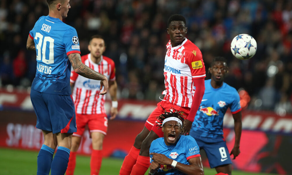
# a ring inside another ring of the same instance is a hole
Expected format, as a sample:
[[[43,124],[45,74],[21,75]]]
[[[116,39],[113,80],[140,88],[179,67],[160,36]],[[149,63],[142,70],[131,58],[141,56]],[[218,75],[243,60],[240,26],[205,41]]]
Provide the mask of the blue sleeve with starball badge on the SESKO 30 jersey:
[[[80,53],[79,39],[76,29],[70,27],[64,34],[64,45],[67,55]]]

